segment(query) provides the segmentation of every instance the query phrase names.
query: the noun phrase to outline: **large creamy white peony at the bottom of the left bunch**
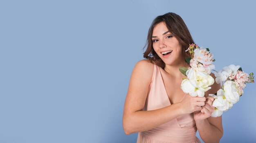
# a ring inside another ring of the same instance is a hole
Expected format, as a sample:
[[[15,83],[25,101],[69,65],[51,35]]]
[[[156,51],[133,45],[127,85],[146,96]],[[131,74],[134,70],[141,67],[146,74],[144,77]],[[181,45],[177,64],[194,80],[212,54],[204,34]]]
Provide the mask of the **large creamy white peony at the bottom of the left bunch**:
[[[192,96],[204,97],[204,92],[211,89],[209,86],[214,83],[214,79],[205,72],[188,69],[186,75],[189,79],[182,81],[181,88]]]

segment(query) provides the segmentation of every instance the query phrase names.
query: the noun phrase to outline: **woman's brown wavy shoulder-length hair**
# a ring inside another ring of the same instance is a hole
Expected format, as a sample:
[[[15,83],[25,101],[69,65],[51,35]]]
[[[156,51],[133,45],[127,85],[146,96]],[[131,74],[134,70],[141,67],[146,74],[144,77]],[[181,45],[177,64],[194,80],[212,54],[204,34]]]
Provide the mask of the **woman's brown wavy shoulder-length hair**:
[[[190,57],[189,52],[185,52],[186,49],[189,48],[189,44],[194,43],[193,38],[189,32],[189,29],[187,28],[185,22],[182,20],[180,15],[177,15],[175,13],[166,13],[164,15],[157,16],[149,30],[148,30],[148,37],[146,40],[146,44],[144,48],[147,47],[146,51],[143,53],[144,58],[148,59],[151,63],[154,63],[158,65],[159,67],[164,68],[165,63],[162,61],[162,59],[157,55],[155,50],[153,49],[153,41],[152,41],[152,34],[153,29],[157,24],[160,22],[164,22],[166,24],[166,27],[168,30],[177,38],[179,43],[182,45],[183,48],[183,54],[186,57]],[[143,50],[144,50],[143,48]],[[184,60],[186,60],[184,58]]]

